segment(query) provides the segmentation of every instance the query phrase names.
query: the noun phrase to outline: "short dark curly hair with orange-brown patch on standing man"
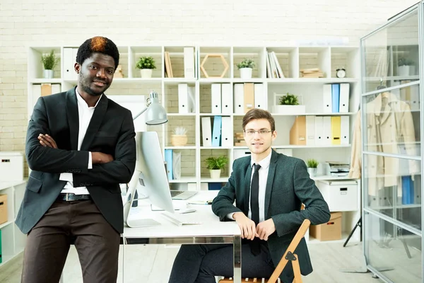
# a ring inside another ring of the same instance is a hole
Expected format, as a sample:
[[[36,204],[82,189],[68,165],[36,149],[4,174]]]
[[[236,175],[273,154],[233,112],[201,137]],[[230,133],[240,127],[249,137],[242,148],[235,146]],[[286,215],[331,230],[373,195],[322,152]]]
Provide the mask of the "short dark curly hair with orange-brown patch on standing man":
[[[115,71],[119,65],[119,51],[117,45],[107,37],[95,36],[86,40],[79,48],[76,54],[76,62],[83,64],[83,62],[93,53],[102,53],[109,55],[114,59]]]

